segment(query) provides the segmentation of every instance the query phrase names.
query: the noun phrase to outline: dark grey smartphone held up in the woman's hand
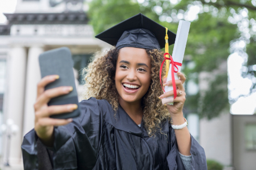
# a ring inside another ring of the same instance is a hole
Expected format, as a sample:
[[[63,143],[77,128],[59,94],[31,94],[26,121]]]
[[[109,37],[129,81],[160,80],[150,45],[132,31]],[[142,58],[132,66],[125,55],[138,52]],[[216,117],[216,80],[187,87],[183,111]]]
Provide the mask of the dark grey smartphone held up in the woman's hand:
[[[46,51],[39,55],[39,65],[41,78],[46,75],[59,75],[59,79],[45,86],[45,90],[59,86],[72,86],[73,90],[63,96],[52,98],[48,102],[50,105],[77,104],[78,108],[72,112],[52,115],[52,118],[66,119],[80,115],[80,106],[78,104],[77,91],[75,86],[75,77],[73,73],[73,61],[69,48],[62,47]]]

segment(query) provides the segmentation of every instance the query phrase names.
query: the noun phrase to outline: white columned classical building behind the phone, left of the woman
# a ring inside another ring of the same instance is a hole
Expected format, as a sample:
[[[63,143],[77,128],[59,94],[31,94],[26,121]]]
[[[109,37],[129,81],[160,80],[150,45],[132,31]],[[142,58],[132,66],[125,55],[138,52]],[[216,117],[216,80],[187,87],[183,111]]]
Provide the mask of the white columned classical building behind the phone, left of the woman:
[[[9,23],[0,25],[0,124],[10,118],[19,127],[10,142],[10,165],[22,165],[22,138],[34,127],[33,104],[36,84],[41,79],[39,54],[69,47],[74,67],[80,71],[96,51],[111,47],[94,38],[83,1],[56,7],[50,4],[54,5],[54,1],[18,0],[15,13],[4,14]],[[81,89],[78,85],[80,94]],[[7,140],[2,136],[0,154],[6,161]]]

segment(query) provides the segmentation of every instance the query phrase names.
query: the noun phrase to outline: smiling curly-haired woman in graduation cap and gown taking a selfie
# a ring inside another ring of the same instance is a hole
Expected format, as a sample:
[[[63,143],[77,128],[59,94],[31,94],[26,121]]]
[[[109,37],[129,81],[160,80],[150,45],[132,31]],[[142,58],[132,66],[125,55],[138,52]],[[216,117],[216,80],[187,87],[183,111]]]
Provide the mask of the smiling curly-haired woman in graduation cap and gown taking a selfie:
[[[132,29],[124,27],[131,23]],[[164,43],[154,29],[165,30],[138,14],[96,36],[115,48],[95,55],[85,70],[86,97],[91,98],[82,100],[77,118],[49,118],[77,106],[47,106],[51,98],[72,89],[44,91],[58,76],[42,78],[34,105],[35,128],[22,144],[25,169],[207,169],[204,150],[187,127],[174,130],[170,123],[170,117],[174,125],[185,122],[184,74],[175,81],[178,96],[169,101],[174,105],[161,102],[173,91],[162,94]],[[107,37],[111,32],[118,39]]]

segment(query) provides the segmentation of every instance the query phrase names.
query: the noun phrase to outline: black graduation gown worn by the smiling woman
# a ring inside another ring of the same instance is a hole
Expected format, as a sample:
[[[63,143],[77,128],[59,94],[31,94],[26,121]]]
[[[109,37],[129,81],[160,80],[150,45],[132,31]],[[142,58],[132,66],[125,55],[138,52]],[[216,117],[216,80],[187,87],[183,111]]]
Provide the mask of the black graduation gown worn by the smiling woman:
[[[117,113],[106,100],[80,102],[81,115],[72,123],[54,128],[53,169],[184,169],[174,129],[168,121],[149,137],[121,106]],[[34,130],[22,143],[25,169],[40,169],[41,147]],[[207,169],[204,149],[191,136],[192,169]],[[48,156],[47,154],[45,156]],[[47,161],[45,162],[47,163]]]

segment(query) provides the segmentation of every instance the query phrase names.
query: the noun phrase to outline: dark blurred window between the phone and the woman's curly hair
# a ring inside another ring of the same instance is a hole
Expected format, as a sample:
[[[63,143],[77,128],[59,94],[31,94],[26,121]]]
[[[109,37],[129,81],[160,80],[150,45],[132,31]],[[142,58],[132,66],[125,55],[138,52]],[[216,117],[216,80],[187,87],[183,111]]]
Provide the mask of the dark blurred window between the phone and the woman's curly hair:
[[[72,55],[74,61],[74,68],[78,71],[79,84],[83,84],[83,68],[89,64],[90,54]]]

